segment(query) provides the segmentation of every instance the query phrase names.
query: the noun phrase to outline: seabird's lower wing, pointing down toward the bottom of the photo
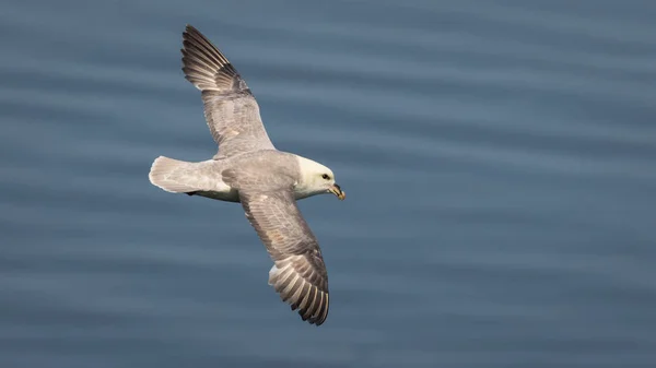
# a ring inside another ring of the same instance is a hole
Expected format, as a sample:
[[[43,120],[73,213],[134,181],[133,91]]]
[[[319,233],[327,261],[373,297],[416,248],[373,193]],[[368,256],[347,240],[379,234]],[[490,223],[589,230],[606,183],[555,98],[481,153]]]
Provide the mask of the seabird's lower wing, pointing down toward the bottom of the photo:
[[[269,285],[298,309],[304,321],[320,325],[328,317],[328,273],[319,244],[290,190],[239,191],[246,217],[274,262]]]

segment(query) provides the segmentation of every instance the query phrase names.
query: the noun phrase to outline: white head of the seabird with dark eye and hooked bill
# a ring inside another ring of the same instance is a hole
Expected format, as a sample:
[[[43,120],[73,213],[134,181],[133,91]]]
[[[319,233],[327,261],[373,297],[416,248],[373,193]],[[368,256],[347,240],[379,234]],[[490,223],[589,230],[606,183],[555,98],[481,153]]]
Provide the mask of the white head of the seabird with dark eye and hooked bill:
[[[345,198],[347,194],[335,183],[331,169],[305,157],[296,156],[296,158],[301,170],[295,188],[296,199],[325,193],[332,193],[340,200]]]

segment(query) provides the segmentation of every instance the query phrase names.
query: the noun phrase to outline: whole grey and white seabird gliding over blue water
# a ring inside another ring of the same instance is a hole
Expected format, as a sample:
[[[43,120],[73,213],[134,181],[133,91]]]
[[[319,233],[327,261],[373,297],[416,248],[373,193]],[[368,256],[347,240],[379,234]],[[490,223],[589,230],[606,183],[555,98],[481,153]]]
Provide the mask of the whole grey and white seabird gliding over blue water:
[[[320,325],[328,274],[295,201],[324,193],[343,200],[344,193],[328,167],[273,146],[246,82],[209,39],[189,25],[183,38],[185,78],[201,91],[219,151],[199,163],[160,156],[150,181],[168,192],[241,203],[274,262],[269,284],[303,320]]]

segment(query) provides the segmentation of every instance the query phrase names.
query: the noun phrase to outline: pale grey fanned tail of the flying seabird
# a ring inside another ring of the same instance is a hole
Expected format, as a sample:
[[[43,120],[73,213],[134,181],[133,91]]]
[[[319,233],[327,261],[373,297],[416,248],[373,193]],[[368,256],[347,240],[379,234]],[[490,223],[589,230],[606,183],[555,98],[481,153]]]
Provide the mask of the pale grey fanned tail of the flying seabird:
[[[153,186],[167,192],[191,193],[198,190],[189,180],[189,174],[192,169],[194,163],[160,156],[153,162],[148,178]]]

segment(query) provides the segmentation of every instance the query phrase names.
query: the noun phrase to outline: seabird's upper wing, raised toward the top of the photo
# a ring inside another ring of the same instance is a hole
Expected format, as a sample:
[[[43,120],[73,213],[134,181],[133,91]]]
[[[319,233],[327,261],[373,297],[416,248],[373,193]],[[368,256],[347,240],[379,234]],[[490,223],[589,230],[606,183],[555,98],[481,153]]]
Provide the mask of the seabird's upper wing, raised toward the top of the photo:
[[[183,34],[183,45],[185,79],[201,91],[206,120],[219,144],[214,158],[274,150],[257,100],[223,54],[190,25]]]

